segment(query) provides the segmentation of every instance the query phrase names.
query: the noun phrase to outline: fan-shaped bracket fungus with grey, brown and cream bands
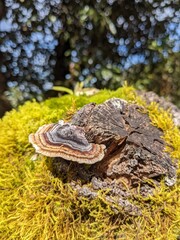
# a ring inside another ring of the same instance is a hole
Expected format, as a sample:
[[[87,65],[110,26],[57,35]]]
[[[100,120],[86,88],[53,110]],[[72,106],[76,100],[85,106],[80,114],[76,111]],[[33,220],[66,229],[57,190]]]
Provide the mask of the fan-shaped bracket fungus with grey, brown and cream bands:
[[[78,163],[93,164],[104,157],[105,145],[89,143],[83,128],[60,121],[46,124],[29,135],[37,153]]]

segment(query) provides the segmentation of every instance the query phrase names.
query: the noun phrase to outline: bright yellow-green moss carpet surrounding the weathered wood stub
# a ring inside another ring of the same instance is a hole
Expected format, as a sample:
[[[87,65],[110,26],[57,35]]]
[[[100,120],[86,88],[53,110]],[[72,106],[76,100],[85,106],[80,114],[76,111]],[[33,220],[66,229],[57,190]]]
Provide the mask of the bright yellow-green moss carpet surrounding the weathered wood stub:
[[[120,209],[115,214],[103,192],[89,201],[78,198],[70,186],[54,178],[49,158],[38,156],[28,135],[39,126],[68,118],[89,102],[101,103],[120,97],[145,106],[132,87],[103,90],[92,97],[66,95],[43,103],[27,102],[0,120],[0,239],[161,239],[178,235],[180,217],[178,186],[157,189],[154,196],[136,196],[142,216],[130,217]],[[154,125],[163,129],[167,147],[180,159],[180,134],[170,115],[156,104],[148,108]]]

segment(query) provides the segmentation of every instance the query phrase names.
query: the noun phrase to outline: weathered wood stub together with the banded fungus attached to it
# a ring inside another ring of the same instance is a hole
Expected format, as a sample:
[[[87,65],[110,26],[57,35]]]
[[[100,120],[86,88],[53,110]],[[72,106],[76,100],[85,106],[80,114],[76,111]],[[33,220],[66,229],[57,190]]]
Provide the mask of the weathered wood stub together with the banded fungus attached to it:
[[[165,177],[168,186],[175,184],[176,166],[164,151],[162,136],[142,107],[112,98],[85,105],[70,123],[42,126],[29,140],[38,153],[56,157],[55,176],[70,172],[73,186],[79,179],[91,183],[93,196],[95,190],[108,188],[114,196],[127,197],[124,186],[141,185],[142,194],[151,193],[149,179],[158,184]]]

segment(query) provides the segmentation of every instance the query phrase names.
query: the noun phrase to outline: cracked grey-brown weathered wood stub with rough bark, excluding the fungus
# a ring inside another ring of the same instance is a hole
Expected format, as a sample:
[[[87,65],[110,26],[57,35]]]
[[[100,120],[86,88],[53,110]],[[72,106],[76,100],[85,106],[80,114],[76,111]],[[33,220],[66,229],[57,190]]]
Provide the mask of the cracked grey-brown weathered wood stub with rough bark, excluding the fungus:
[[[147,195],[163,177],[168,186],[176,182],[175,165],[164,152],[163,132],[144,112],[142,107],[118,98],[85,105],[71,123],[84,129],[89,142],[105,144],[105,157],[89,166],[55,159],[54,174],[63,175],[81,196],[92,198],[97,190],[108,189],[108,201],[118,203],[128,213],[139,214],[140,210],[128,201],[128,189],[140,189]]]

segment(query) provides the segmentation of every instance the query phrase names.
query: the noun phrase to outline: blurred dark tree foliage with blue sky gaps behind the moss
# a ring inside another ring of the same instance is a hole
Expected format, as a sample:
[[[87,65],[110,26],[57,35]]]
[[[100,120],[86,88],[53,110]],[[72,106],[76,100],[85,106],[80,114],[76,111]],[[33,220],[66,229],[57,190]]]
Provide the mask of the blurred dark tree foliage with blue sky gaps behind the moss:
[[[55,96],[53,85],[127,81],[178,104],[178,10],[176,0],[0,0],[0,93],[17,106]]]

